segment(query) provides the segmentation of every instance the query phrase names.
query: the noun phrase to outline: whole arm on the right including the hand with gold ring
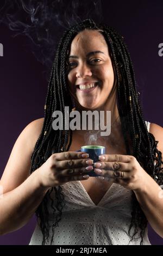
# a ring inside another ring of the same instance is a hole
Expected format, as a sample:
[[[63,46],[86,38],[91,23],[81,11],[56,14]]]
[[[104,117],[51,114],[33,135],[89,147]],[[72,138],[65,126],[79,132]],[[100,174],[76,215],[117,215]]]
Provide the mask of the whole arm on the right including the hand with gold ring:
[[[150,132],[159,141],[158,150],[163,152],[163,128],[152,124]],[[103,154],[94,166],[95,173],[103,176],[105,180],[134,191],[148,222],[163,237],[163,191],[137,159],[130,155]]]

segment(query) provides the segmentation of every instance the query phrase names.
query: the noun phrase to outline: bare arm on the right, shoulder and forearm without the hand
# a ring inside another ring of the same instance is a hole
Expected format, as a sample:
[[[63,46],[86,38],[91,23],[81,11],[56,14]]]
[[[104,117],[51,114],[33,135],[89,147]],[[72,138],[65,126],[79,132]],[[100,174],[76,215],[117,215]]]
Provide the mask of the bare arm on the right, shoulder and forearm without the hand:
[[[163,128],[151,123],[149,132],[155,136],[155,140],[159,141],[158,150],[162,152],[163,157]],[[145,186],[134,190],[134,193],[149,224],[163,238],[163,190],[148,175]]]

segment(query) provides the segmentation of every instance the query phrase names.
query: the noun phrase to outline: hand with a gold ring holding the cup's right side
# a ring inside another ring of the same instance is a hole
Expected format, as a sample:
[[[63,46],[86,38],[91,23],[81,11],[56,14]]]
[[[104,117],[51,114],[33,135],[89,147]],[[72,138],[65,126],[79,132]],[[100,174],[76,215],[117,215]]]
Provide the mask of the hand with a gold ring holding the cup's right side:
[[[143,188],[148,175],[134,156],[123,154],[102,154],[94,167],[95,173],[103,176],[104,180],[113,180],[131,190]]]

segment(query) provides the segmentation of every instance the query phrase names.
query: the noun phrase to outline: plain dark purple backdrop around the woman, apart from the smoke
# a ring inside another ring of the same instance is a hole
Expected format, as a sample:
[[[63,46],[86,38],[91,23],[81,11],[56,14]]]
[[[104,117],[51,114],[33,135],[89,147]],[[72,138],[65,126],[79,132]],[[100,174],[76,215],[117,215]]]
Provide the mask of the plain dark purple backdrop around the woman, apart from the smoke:
[[[162,64],[158,45],[163,43],[163,2],[102,1],[104,22],[114,26],[124,36],[134,62],[137,83],[145,119],[163,126]],[[55,25],[54,25],[55,26]],[[28,40],[0,26],[1,82],[1,175],[12,147],[27,124],[43,117],[47,81],[43,67],[30,51]],[[27,245],[33,233],[35,218],[22,229],[1,236],[1,245]],[[153,245],[163,245],[163,239],[149,228]]]

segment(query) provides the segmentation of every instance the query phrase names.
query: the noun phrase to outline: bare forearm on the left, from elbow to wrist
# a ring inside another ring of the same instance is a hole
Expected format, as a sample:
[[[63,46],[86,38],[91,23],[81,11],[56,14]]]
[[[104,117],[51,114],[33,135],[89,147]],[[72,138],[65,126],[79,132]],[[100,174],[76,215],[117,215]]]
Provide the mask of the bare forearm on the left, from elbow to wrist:
[[[42,187],[39,182],[37,169],[20,186],[2,194],[0,234],[4,235],[23,227],[33,216],[47,190],[48,188]]]

